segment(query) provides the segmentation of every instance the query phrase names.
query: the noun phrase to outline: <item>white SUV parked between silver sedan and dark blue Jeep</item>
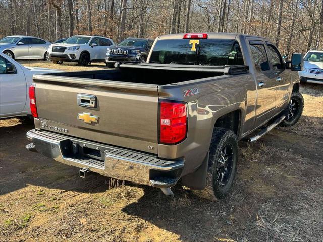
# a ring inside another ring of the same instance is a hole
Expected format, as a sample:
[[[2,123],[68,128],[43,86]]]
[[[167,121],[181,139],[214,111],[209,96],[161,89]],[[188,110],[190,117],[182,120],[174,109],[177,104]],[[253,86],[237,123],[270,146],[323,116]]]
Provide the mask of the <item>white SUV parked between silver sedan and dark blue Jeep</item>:
[[[104,62],[107,46],[114,42],[101,36],[75,35],[61,44],[48,48],[49,58],[53,63],[78,62],[87,66],[91,62]]]

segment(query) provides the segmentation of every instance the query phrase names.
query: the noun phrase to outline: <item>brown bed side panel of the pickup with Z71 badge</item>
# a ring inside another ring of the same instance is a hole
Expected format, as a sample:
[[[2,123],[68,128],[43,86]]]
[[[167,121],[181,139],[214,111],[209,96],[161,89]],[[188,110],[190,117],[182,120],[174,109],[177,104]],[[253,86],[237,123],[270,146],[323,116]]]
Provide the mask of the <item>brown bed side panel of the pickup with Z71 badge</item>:
[[[199,88],[199,93],[184,97],[186,90]],[[256,101],[255,81],[252,74],[204,78],[158,88],[159,98],[188,103],[187,138],[177,145],[158,145],[158,156],[185,158],[183,174],[193,172],[208,152],[214,124],[229,112],[240,110],[242,132],[252,130]]]

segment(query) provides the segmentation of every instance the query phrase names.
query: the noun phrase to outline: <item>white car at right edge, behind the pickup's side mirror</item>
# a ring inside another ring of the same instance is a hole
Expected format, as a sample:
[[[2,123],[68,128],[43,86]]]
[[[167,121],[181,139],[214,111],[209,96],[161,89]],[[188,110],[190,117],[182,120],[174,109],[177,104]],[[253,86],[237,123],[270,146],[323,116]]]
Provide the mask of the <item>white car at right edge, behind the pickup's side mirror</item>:
[[[298,74],[301,82],[323,84],[323,51],[308,51],[304,57],[304,68]]]

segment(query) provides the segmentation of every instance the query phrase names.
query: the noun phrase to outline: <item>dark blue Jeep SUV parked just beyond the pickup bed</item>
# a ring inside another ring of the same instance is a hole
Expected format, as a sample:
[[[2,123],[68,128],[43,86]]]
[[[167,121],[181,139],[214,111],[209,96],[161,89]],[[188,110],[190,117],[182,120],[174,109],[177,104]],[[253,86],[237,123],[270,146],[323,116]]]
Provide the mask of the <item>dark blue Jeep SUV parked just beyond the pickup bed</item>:
[[[113,68],[116,62],[140,61],[145,62],[151,46],[152,39],[127,38],[119,44],[107,48],[106,63]]]

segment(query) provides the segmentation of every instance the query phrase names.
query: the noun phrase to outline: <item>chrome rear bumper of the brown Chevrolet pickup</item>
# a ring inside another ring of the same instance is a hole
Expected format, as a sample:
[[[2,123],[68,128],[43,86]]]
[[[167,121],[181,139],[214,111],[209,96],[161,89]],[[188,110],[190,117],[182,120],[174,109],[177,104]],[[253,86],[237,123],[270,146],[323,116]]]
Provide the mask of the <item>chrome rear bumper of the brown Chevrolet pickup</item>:
[[[163,160],[150,154],[36,129],[28,131],[27,138],[32,140],[37,152],[61,163],[159,188],[174,186],[184,167],[184,160]]]

